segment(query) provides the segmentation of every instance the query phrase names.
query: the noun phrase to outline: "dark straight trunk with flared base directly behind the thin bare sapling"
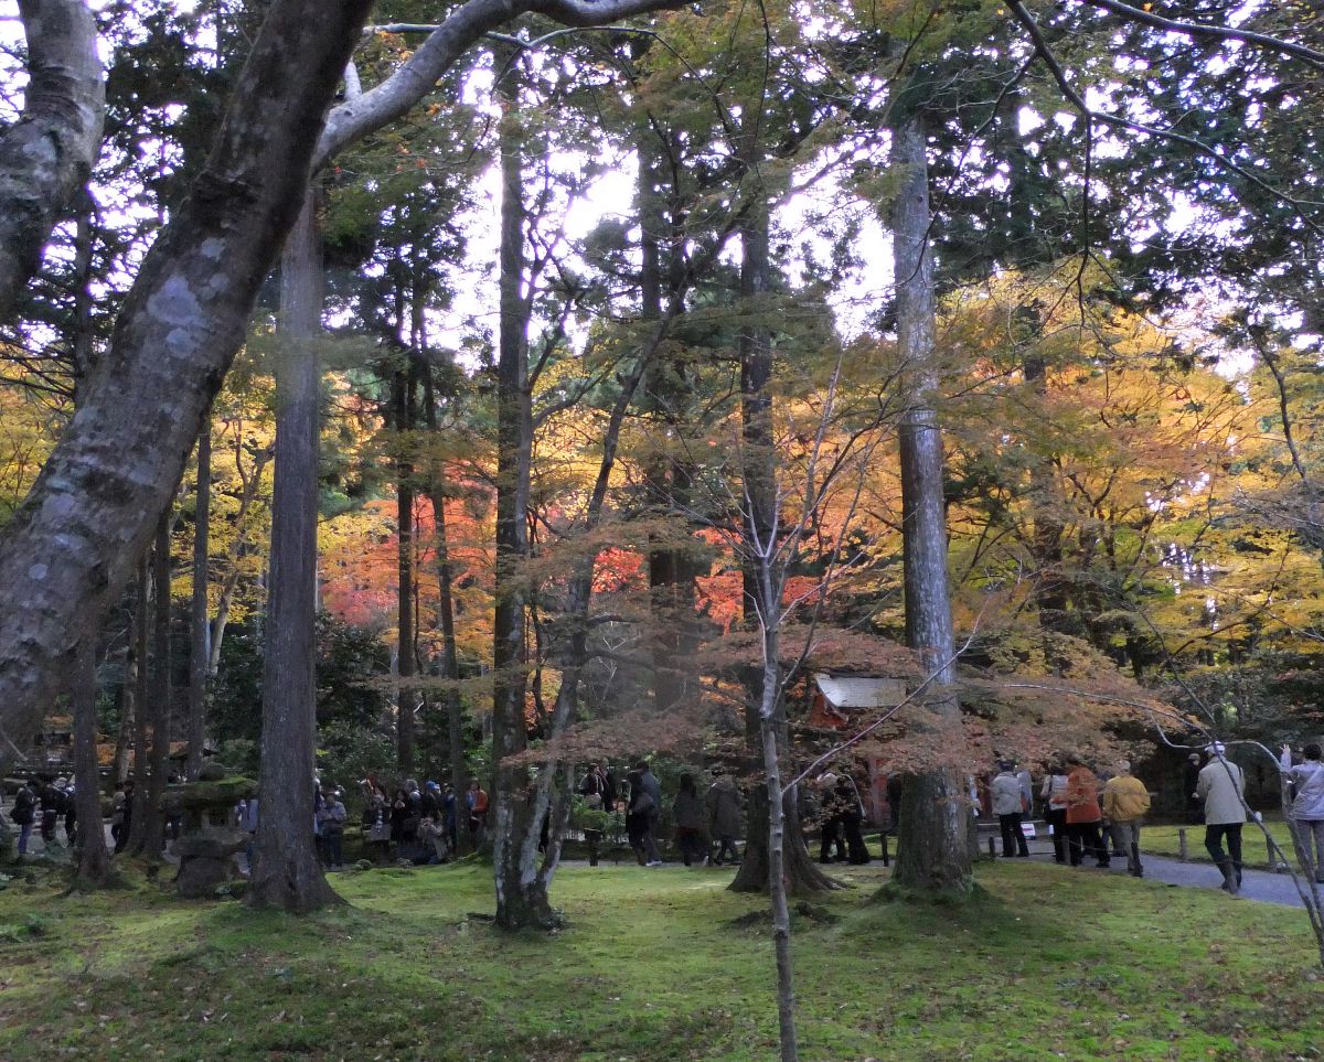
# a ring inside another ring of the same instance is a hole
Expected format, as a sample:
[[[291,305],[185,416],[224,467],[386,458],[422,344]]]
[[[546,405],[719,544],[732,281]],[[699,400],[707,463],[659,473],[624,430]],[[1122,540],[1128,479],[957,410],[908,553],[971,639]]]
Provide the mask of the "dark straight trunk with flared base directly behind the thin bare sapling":
[[[760,585],[760,567],[772,563],[771,547],[777,534],[777,471],[772,434],[772,335],[760,319],[765,313],[763,299],[772,290],[772,264],[768,253],[768,207],[760,199],[749,208],[740,229],[740,297],[744,305],[745,326],[740,332],[740,461],[744,499],[740,506],[744,520],[745,560],[741,565],[744,588],[744,621],[751,629],[764,626],[769,616],[760,616],[764,591]],[[779,608],[780,601],[773,601]],[[777,665],[777,661],[773,661]],[[751,763],[763,764],[764,724],[761,707],[767,670],[752,670],[747,678],[749,707],[745,711],[745,738]],[[777,695],[772,690],[773,697]],[[765,764],[764,768],[767,769]],[[789,808],[786,806],[789,804]],[[798,829],[794,789],[786,793],[782,814],[793,828],[785,832],[785,851],[779,857],[784,865],[784,883],[792,893],[817,893],[833,889],[834,883],[809,857],[804,834]],[[777,816],[769,814],[763,798],[749,802],[749,822],[745,830],[745,850],[740,870],[731,882],[736,893],[764,893],[769,889],[772,851],[767,847],[772,824]]]

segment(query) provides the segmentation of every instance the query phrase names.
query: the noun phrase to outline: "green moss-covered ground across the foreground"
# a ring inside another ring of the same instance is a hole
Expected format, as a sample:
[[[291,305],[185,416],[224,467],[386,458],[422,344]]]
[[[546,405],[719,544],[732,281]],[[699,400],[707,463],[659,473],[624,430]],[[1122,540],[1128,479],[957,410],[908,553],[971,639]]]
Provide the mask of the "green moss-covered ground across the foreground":
[[[956,906],[798,918],[806,1059],[1313,1058],[1300,911],[1006,861]],[[159,886],[0,891],[0,1058],[767,1059],[772,944],[730,871],[564,869],[568,928],[503,935],[478,866],[335,875],[306,919]]]

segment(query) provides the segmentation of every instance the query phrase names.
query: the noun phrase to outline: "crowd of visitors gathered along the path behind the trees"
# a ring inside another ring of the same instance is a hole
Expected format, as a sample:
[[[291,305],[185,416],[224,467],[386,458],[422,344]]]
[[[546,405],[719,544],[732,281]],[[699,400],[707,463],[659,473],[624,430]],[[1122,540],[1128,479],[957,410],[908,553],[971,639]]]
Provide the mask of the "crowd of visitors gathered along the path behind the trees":
[[[1211,743],[1204,755],[1193,752],[1182,776],[1188,816],[1205,828],[1205,847],[1222,875],[1222,887],[1237,894],[1242,885],[1242,828],[1247,821],[1246,779],[1241,767],[1225,755],[1221,743]],[[1128,871],[1144,875],[1140,858],[1140,830],[1151,808],[1151,795],[1127,760],[1106,769],[1092,769],[1079,756],[1066,756],[1050,764],[1035,787],[1030,772],[1013,760],[1002,760],[988,784],[988,800],[998,821],[1005,858],[1030,854],[1025,822],[1035,810],[1035,788],[1041,810],[1053,840],[1058,863],[1108,867],[1124,858]],[[1288,820],[1307,866],[1324,883],[1324,760],[1317,743],[1305,744],[1298,755],[1283,746],[1279,760],[1287,787]],[[638,760],[624,779],[617,780],[606,765],[591,764],[577,785],[584,806],[591,812],[617,812],[625,836],[641,866],[662,865],[665,809],[670,810],[674,842],[685,866],[722,866],[741,858],[744,837],[744,797],[736,780],[723,767],[711,771],[711,783],[700,791],[692,772],[681,773],[669,804],[663,787],[646,760]],[[892,826],[900,787],[887,787],[892,805]],[[388,791],[376,779],[361,784],[360,824],[368,857],[377,863],[409,859],[416,865],[444,863],[459,851],[461,830],[470,850],[483,846],[490,800],[477,779],[457,795],[453,787],[414,779]],[[826,771],[800,788],[798,817],[806,833],[820,833],[821,862],[866,863],[869,847],[863,837],[867,818],[859,787],[845,769]],[[978,800],[978,793],[972,796]],[[122,851],[131,830],[134,781],[117,783],[110,801],[110,833],[115,851]],[[236,825],[249,834],[249,861],[257,836],[260,804],[254,797],[234,809]],[[46,846],[73,846],[77,838],[74,787],[61,776],[36,775],[12,791],[9,821],[17,826],[17,851],[29,851],[33,834]],[[344,866],[344,832],[350,814],[344,792],[318,783],[314,792],[312,833],[323,863]],[[601,820],[609,821],[609,820]],[[543,822],[544,846],[549,817]],[[591,859],[596,862],[602,829],[591,824],[583,830]],[[173,836],[168,829],[167,836]]]

